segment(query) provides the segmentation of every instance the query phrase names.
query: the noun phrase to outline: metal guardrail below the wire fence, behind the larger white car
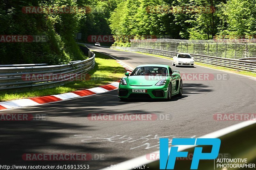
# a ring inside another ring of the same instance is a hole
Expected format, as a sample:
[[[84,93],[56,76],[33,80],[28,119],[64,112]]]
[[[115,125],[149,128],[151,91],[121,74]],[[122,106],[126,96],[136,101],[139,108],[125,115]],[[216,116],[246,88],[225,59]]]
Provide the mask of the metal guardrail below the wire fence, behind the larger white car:
[[[148,53],[148,54],[163,55],[168,57],[173,57],[179,53],[174,51],[166,51],[166,50],[150,49],[150,48],[117,47],[117,46],[113,46],[110,48],[116,48],[116,49],[121,49],[126,51],[132,51],[132,52],[142,52],[142,53]],[[200,63],[217,65],[217,66],[227,67],[235,70],[256,72],[256,61],[222,58],[222,57],[214,57],[214,56],[199,55],[199,54],[191,54],[191,56],[194,57],[194,60],[196,62],[200,62]]]

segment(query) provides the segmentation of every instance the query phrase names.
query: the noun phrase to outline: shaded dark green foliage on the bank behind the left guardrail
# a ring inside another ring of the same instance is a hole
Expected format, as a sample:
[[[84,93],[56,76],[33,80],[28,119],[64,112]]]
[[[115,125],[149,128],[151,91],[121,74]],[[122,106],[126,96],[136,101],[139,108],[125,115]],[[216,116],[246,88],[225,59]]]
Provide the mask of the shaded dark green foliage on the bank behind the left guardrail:
[[[81,4],[85,2],[81,1]],[[68,63],[82,60],[75,42],[84,13],[23,13],[25,6],[78,6],[73,0],[4,0],[0,4],[0,35],[46,35],[47,42],[1,42],[0,64]]]

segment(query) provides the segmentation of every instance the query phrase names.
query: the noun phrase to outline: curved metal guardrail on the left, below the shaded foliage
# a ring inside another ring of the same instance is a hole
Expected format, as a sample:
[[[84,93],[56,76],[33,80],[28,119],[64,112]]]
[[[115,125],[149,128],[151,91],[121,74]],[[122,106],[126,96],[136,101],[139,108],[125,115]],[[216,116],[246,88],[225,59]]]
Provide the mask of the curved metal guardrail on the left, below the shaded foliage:
[[[20,92],[28,89],[45,89],[74,81],[77,76],[87,73],[94,68],[95,54],[93,52],[91,52],[91,54],[92,57],[86,60],[69,64],[32,67],[0,67],[0,91]],[[60,78],[60,76],[63,75],[65,75],[65,77]],[[28,78],[33,76],[36,78]]]

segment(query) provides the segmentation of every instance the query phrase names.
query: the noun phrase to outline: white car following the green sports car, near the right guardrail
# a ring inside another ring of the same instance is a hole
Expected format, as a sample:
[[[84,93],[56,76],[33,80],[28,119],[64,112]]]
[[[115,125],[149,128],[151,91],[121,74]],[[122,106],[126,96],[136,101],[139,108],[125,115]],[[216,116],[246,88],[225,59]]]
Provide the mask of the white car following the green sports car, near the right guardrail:
[[[194,59],[188,53],[178,53],[175,57],[173,57],[173,66],[190,66],[194,67]]]

